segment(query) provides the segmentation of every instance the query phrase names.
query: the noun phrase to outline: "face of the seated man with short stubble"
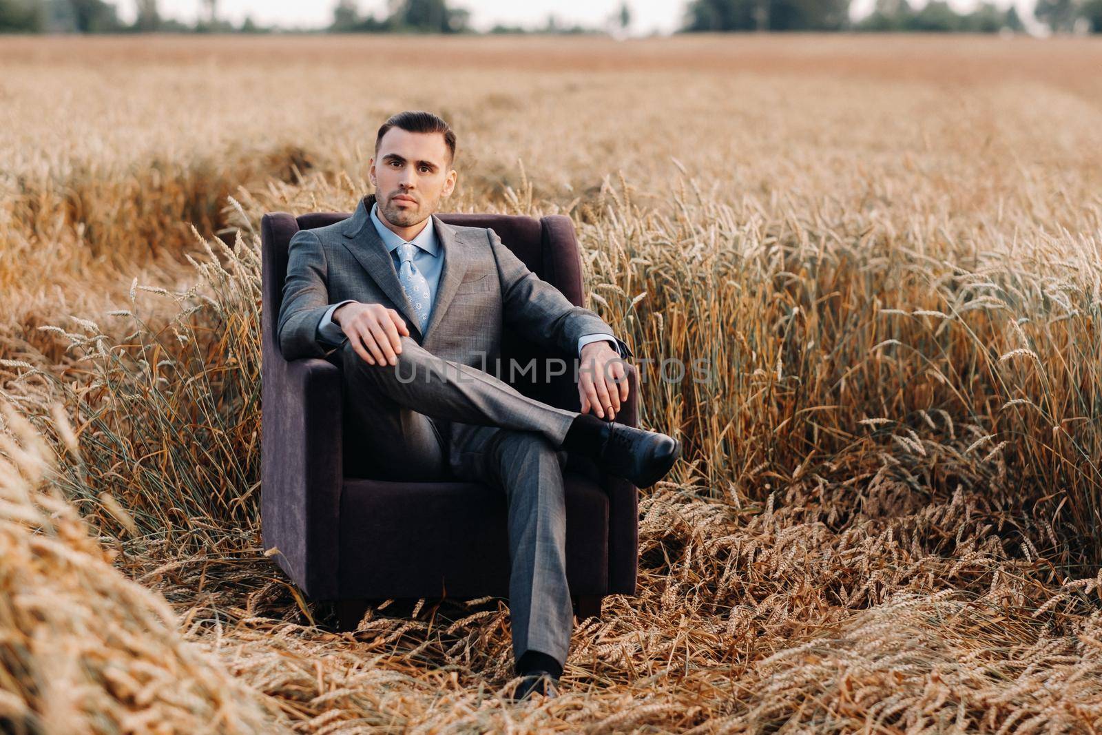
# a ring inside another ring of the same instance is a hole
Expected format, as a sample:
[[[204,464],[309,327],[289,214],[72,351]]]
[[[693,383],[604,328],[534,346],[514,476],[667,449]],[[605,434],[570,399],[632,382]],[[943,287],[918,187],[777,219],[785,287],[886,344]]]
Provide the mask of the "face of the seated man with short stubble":
[[[398,227],[412,227],[436,212],[455,188],[455,170],[439,132],[391,128],[379,141],[369,175],[380,214]]]

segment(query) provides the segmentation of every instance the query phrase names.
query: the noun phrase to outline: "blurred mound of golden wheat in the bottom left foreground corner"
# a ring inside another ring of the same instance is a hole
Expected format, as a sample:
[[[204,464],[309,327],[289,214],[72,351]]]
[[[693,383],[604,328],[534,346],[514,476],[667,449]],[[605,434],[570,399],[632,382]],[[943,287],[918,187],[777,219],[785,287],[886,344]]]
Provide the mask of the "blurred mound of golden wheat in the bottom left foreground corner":
[[[50,477],[54,453],[7,403],[0,450],[0,724],[11,733],[253,733],[278,710],[184,640]],[[61,414],[60,414],[61,415]],[[63,433],[72,436],[64,418]],[[71,445],[74,451],[75,445]]]

